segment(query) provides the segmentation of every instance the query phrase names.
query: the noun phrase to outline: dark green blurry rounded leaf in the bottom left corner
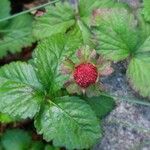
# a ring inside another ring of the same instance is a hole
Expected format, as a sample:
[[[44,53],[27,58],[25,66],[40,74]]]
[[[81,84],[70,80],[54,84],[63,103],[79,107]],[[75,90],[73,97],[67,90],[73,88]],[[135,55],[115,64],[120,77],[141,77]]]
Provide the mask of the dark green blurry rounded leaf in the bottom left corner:
[[[5,150],[26,150],[31,142],[30,136],[19,129],[7,130],[1,140]]]

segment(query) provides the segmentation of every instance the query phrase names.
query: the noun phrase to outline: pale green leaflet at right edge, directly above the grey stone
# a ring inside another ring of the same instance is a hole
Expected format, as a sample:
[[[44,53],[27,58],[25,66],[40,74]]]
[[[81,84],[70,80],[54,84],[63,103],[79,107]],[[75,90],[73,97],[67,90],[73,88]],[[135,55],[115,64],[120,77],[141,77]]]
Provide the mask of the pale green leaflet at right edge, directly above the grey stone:
[[[146,44],[149,43],[146,41]],[[141,48],[143,48],[143,50],[147,50],[144,45]],[[138,53],[136,56],[134,56],[134,58],[131,59],[127,69],[127,78],[133,89],[139,92],[141,96],[148,98],[150,98],[149,70],[150,55],[148,53]]]

